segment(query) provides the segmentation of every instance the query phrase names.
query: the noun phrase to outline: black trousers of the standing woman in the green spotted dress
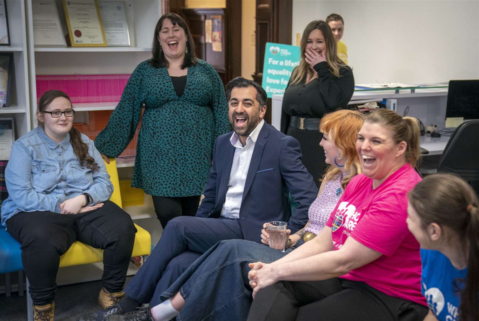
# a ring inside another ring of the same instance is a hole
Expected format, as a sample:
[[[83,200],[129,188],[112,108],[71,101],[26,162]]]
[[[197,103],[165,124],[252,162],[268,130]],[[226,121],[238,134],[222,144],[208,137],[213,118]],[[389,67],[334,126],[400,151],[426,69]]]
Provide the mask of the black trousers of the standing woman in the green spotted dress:
[[[166,224],[177,216],[194,216],[200,204],[201,195],[167,197],[151,196],[155,213],[160,221],[161,227],[165,229]]]

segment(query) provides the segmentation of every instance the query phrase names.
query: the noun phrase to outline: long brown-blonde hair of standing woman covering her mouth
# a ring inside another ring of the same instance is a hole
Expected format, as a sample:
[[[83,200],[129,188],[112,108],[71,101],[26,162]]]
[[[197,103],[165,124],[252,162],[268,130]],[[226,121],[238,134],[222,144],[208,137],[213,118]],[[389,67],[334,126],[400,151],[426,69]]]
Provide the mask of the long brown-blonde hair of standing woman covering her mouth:
[[[318,29],[323,33],[324,41],[326,43],[326,61],[329,64],[331,74],[339,78],[339,70],[342,67],[346,67],[346,64],[344,64],[344,62],[338,57],[336,41],[334,40],[334,36],[329,24],[322,20],[311,21],[306,26],[305,30],[303,31],[303,36],[301,37],[301,58],[299,59],[299,65],[293,70],[290,85],[297,84],[303,79],[306,79],[307,75],[310,77],[314,75],[314,70],[312,70],[309,64],[306,62],[305,51],[309,34],[315,29]]]

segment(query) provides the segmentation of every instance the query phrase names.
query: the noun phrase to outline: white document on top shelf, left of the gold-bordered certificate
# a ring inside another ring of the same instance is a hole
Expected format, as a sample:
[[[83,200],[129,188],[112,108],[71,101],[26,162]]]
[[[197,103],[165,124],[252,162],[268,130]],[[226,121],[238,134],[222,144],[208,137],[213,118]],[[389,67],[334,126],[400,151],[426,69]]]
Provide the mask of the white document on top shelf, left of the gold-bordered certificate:
[[[35,46],[67,46],[55,0],[32,0]]]

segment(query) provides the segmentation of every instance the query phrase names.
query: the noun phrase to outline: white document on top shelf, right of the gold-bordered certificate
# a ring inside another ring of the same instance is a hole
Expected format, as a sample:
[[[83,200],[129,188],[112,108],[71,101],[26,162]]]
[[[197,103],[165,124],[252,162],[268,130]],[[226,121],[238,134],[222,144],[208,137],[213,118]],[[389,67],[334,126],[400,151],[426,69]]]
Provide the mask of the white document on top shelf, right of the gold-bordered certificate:
[[[103,32],[108,46],[129,46],[125,1],[98,1]]]

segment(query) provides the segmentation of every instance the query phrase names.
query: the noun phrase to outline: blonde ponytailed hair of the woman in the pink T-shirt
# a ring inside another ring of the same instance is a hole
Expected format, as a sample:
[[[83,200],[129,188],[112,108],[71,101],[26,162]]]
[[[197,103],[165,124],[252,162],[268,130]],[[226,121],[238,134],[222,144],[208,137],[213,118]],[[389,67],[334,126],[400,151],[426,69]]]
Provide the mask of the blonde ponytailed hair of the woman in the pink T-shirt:
[[[402,117],[395,111],[381,108],[370,113],[366,117],[365,122],[380,124],[389,128],[396,144],[405,141],[407,144],[406,152],[404,153],[406,161],[412,167],[417,168],[421,159],[421,150],[419,149],[421,131],[416,118]]]

